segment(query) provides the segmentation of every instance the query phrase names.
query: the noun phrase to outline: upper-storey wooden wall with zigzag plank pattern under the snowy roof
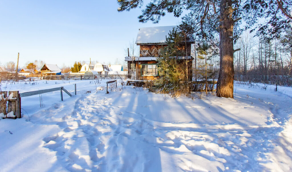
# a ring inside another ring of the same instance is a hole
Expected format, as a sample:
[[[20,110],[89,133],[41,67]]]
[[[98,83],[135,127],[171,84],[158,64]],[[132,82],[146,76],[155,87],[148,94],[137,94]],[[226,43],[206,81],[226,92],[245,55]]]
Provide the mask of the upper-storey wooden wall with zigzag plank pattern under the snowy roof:
[[[137,44],[138,45],[138,44]],[[161,48],[165,45],[140,45],[140,57],[159,57]],[[183,47],[185,50],[185,47]],[[191,55],[191,43],[187,43],[187,56]]]

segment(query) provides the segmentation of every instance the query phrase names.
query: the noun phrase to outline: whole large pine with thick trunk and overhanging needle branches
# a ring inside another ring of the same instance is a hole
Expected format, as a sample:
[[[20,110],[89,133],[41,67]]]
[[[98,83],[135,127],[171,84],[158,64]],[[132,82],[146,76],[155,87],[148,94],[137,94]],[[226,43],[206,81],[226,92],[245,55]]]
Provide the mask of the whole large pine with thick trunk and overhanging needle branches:
[[[118,0],[118,4],[118,11],[129,11],[142,7],[143,0]],[[243,30],[238,25],[239,17],[247,23],[244,29],[255,26],[252,29],[257,28],[258,34],[277,36],[285,29],[291,29],[291,8],[291,0],[151,0],[138,19],[158,23],[166,12],[179,17],[183,10],[190,10],[182,25],[191,26],[198,37],[210,42],[219,34],[220,71],[216,94],[233,98],[233,43]],[[257,25],[259,18],[265,18],[267,22]]]

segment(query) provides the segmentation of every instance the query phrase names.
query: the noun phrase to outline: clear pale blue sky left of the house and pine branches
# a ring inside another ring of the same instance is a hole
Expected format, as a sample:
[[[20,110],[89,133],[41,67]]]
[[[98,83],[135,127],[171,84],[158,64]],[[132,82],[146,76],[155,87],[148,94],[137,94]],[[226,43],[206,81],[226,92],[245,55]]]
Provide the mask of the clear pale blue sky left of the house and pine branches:
[[[145,2],[146,4],[146,2]],[[141,9],[117,12],[116,0],[1,0],[0,64],[43,60],[72,66],[74,61],[124,60],[140,27],[177,25],[167,14],[158,24],[139,23]]]

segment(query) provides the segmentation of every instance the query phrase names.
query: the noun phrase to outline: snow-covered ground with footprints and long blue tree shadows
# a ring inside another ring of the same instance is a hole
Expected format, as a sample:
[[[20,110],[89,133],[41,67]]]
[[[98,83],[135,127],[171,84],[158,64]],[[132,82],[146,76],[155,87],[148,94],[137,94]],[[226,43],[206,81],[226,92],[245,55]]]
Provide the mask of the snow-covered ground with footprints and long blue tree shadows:
[[[292,88],[235,84],[234,99],[154,94],[102,81],[1,83],[55,91],[0,121],[0,171],[291,171]],[[119,81],[120,83],[121,81]],[[90,91],[91,93],[88,93]]]

